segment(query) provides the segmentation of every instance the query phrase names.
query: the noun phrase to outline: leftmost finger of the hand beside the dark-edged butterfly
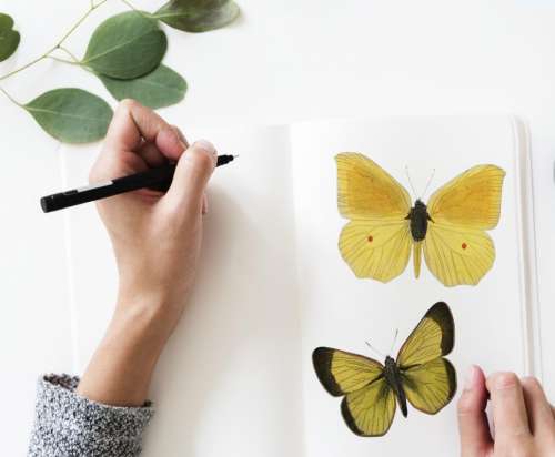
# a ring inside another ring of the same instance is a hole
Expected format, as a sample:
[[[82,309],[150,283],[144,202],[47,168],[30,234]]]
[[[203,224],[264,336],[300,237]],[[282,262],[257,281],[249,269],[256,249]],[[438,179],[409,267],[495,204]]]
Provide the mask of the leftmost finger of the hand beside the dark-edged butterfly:
[[[462,457],[485,456],[492,446],[485,414],[486,403],[484,373],[473,365],[466,374],[464,390],[457,405]]]

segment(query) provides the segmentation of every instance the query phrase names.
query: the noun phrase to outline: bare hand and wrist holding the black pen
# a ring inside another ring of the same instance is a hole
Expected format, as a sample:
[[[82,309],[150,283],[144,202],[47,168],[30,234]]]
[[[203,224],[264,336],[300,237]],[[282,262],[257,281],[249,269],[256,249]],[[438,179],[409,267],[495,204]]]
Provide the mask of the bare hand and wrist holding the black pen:
[[[115,312],[79,384],[79,393],[111,405],[141,405],[155,362],[175,327],[195,275],[205,186],[214,146],[191,146],[152,110],[122,101],[108,130],[91,183],[178,163],[170,190],[143,189],[97,203],[119,271]]]

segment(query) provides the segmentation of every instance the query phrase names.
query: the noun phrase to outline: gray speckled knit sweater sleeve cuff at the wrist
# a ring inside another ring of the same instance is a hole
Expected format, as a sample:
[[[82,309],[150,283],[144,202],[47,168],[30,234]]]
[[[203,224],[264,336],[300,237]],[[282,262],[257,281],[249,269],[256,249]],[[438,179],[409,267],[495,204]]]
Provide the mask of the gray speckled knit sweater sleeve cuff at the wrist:
[[[151,404],[107,406],[75,393],[78,377],[48,375],[39,379],[30,457],[128,457],[141,453]]]

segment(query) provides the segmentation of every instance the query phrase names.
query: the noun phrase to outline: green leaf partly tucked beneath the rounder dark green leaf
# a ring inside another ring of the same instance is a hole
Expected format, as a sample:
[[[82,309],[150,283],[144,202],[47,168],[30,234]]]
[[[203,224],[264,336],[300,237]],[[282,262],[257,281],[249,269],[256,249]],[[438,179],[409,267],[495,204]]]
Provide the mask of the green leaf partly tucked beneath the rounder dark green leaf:
[[[179,103],[186,92],[186,81],[163,64],[134,80],[117,80],[102,74],[98,77],[114,99],[134,99],[152,109]]]

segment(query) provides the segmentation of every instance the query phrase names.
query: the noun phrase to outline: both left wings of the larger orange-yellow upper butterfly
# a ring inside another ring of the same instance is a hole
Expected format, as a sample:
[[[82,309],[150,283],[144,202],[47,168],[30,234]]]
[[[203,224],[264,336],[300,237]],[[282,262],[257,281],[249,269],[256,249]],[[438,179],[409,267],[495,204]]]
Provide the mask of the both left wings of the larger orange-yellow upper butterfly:
[[[398,276],[411,256],[411,199],[375,162],[342,153],[337,163],[337,205],[350,219],[340,235],[340,252],[357,277],[384,283]]]

